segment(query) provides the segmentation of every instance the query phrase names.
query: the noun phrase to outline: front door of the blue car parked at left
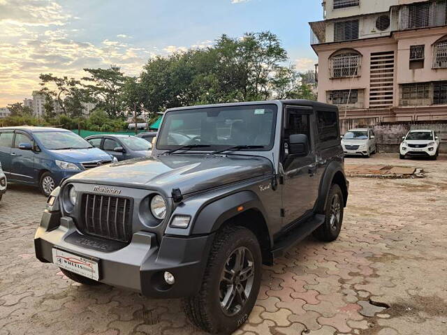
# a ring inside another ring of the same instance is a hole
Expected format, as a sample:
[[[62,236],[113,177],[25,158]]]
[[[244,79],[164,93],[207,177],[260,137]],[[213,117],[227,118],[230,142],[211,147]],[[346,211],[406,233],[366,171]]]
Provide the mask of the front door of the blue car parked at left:
[[[28,143],[34,147],[31,138],[22,132],[15,132],[14,145],[11,149],[11,177],[25,183],[36,183],[34,170],[34,151],[19,149],[19,144]]]

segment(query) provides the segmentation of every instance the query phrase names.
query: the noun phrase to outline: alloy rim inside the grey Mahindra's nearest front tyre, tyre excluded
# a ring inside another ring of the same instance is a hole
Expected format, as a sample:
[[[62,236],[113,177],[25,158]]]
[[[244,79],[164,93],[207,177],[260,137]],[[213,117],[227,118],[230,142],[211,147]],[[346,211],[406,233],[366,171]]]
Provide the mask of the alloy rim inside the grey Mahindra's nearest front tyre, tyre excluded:
[[[227,316],[239,313],[250,297],[254,283],[254,258],[241,246],[227,258],[219,283],[220,306]]]

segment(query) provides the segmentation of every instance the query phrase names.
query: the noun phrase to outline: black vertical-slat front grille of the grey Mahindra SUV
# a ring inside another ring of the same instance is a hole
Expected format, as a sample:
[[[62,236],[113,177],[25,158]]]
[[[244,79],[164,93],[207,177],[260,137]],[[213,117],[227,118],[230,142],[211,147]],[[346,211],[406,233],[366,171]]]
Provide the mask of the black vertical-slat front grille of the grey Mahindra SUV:
[[[78,229],[85,234],[130,242],[132,205],[127,198],[83,194]]]

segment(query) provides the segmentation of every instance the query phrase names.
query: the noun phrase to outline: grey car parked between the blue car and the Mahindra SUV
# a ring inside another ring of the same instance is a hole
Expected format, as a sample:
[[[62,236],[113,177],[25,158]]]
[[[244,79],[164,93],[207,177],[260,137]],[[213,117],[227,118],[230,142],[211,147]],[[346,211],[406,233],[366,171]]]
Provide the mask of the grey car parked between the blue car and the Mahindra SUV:
[[[114,156],[118,161],[151,156],[152,154],[152,144],[131,135],[92,135],[85,140],[94,147]]]

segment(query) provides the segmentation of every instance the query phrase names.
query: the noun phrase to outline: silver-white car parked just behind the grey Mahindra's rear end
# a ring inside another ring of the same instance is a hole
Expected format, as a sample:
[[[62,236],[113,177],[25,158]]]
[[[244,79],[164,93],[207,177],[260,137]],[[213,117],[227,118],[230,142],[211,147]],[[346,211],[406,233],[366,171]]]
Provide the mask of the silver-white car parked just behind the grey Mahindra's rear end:
[[[376,135],[370,128],[351,129],[342,137],[345,155],[369,157],[377,152]]]

